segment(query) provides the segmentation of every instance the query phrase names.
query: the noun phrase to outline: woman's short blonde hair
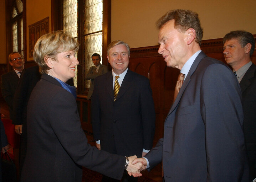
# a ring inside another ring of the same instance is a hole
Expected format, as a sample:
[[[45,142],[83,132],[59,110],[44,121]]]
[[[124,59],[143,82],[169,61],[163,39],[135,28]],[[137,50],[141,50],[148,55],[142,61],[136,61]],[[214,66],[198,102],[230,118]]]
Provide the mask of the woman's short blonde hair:
[[[79,43],[67,32],[58,30],[41,36],[34,47],[33,58],[39,65],[41,73],[48,73],[50,69],[45,63],[45,58],[50,57],[55,60],[58,53],[73,50],[77,52]]]

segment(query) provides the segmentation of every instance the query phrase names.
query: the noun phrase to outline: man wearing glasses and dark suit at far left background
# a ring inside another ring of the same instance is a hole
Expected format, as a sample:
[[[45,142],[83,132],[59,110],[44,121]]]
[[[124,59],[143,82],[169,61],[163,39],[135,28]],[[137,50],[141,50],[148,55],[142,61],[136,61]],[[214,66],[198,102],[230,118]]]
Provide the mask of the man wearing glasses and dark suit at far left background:
[[[24,69],[24,57],[19,52],[12,52],[9,54],[9,63],[13,70],[1,76],[1,92],[9,107],[10,119],[13,119],[13,98],[21,72]]]

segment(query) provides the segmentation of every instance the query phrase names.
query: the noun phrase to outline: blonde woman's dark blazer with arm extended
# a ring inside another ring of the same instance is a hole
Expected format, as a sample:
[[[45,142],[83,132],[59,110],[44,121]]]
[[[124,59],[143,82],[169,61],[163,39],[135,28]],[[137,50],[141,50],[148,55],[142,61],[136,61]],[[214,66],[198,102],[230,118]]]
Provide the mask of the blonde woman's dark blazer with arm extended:
[[[125,157],[87,143],[75,97],[42,74],[27,106],[27,154],[22,182],[81,182],[85,166],[121,179]]]

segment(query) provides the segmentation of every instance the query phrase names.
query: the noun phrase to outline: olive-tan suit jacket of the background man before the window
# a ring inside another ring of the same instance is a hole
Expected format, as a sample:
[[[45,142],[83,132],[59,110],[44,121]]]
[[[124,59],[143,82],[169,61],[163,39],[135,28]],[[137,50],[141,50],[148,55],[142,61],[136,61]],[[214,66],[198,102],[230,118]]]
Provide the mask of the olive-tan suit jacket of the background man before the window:
[[[98,73],[95,73],[95,71],[96,71],[96,67],[91,66],[88,73],[85,75],[86,80],[91,80],[90,88],[89,88],[88,95],[87,95],[88,100],[92,96],[93,87],[94,87],[94,79],[99,75],[103,75],[103,74],[107,73],[108,72],[108,66],[100,64]]]

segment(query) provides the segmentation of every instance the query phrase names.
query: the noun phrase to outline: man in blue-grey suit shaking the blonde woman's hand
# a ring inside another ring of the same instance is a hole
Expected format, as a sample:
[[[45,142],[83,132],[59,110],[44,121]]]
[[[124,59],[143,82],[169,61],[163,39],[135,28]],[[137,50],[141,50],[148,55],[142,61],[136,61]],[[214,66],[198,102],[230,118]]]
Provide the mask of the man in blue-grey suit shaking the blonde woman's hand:
[[[185,80],[165,119],[164,138],[145,158],[149,167],[163,161],[165,182],[249,181],[241,91],[232,71],[200,50],[198,14],[171,10],[161,17],[159,54]]]

